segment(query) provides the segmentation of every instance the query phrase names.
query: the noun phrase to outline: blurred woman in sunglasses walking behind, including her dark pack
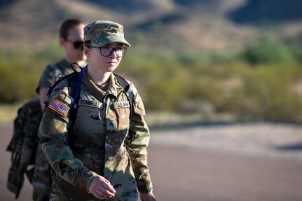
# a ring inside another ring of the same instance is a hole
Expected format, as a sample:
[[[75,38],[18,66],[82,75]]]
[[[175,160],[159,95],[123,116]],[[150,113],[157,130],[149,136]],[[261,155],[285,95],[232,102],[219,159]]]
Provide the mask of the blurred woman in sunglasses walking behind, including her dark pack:
[[[18,110],[14,121],[13,138],[7,151],[11,151],[11,167],[8,172],[7,188],[18,198],[27,174],[34,186],[33,199],[45,200],[50,189],[49,165],[39,146],[37,131],[44,109],[47,93],[61,76],[72,73],[71,63],[85,65],[83,48],[83,27],[81,20],[65,20],[60,27],[60,45],[64,48],[64,58],[55,64],[49,64],[43,71],[36,92],[39,98],[32,99]],[[30,168],[29,165],[34,165]]]

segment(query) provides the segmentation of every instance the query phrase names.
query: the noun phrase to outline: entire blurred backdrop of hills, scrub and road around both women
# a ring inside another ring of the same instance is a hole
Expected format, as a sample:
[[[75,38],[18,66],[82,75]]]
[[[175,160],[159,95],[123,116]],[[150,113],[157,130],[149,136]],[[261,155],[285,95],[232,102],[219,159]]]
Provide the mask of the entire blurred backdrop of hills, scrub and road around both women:
[[[158,200],[302,200],[300,0],[0,0],[3,150],[63,56],[67,18],[124,26],[132,46],[116,73],[144,99]],[[0,200],[14,200],[0,157]]]

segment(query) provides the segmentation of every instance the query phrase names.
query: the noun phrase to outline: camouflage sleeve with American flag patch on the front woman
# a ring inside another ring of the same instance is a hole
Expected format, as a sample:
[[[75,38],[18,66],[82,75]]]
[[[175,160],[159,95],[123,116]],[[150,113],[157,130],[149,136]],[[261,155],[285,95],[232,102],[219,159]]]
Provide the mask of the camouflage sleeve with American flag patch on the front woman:
[[[67,88],[60,88],[58,85],[48,102],[39,126],[41,148],[50,166],[62,179],[88,191],[97,174],[75,158],[69,146],[67,123],[71,98]]]

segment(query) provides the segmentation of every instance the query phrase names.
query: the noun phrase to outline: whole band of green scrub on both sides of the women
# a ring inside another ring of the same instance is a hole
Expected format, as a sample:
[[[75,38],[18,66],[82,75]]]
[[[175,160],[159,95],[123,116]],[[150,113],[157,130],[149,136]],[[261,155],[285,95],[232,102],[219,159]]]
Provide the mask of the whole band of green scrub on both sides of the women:
[[[2,51],[0,102],[24,102],[46,64],[62,51]],[[302,122],[302,52],[264,36],[242,53],[181,53],[130,48],[118,74],[137,86],[146,109],[243,120]]]

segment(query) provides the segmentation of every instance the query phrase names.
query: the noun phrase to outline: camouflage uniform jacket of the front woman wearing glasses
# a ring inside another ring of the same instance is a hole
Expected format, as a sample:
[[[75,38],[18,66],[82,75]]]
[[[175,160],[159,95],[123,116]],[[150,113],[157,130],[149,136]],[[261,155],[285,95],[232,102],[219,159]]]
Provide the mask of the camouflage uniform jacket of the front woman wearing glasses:
[[[102,90],[85,71],[74,129],[67,134],[67,112],[51,107],[58,102],[69,111],[74,100],[67,83],[63,80],[53,90],[39,127],[40,144],[51,167],[62,179],[86,191],[96,174],[104,176],[116,190],[112,200],[137,200],[137,188],[148,193],[152,189],[146,151],[149,129],[135,86],[130,83],[134,92],[130,120],[130,104],[115,76],[111,74],[107,89]],[[135,132],[131,147],[130,125]]]

